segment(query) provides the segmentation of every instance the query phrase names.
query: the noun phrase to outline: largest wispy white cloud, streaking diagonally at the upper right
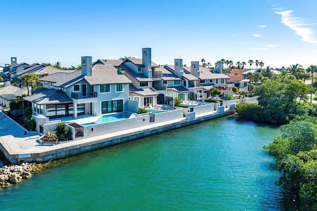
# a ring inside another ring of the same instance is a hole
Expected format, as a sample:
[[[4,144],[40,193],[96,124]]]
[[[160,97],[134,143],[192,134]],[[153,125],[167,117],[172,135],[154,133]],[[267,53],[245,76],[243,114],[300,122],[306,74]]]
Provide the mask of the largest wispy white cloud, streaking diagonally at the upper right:
[[[295,31],[297,35],[301,36],[302,41],[317,45],[317,40],[314,37],[314,31],[307,27],[313,24],[306,24],[301,20],[300,17],[293,17],[291,14],[292,12],[293,10],[285,10],[275,13],[282,16],[281,23]]]

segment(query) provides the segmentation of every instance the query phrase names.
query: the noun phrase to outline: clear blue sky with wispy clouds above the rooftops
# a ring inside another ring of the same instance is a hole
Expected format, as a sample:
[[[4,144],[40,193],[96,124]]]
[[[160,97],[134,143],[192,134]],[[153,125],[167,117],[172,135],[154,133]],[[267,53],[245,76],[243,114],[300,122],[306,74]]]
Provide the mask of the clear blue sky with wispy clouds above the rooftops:
[[[317,64],[316,0],[0,0],[0,65],[81,56]],[[255,65],[254,65],[255,67]]]

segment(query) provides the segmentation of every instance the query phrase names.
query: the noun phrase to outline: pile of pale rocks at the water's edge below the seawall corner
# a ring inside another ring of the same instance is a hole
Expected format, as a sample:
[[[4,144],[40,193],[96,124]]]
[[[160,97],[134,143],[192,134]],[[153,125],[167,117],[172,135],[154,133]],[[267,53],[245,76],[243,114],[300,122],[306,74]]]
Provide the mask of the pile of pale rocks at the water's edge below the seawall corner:
[[[45,164],[22,163],[21,165],[3,166],[0,168],[0,188],[9,187],[23,179],[29,179],[34,173],[42,171]]]

